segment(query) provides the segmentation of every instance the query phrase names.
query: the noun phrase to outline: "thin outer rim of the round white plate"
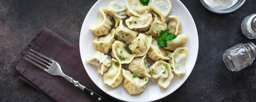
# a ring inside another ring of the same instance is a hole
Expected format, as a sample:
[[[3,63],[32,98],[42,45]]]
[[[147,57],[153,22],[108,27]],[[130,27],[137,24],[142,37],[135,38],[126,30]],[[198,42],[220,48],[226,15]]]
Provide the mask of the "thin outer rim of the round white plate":
[[[101,0],[97,0],[96,1],[96,3],[94,3],[93,4],[93,6],[91,7],[91,8],[93,8],[94,6],[96,6],[96,4],[98,4],[99,2],[100,2]],[[170,0],[171,1],[171,0]],[[186,8],[186,6],[180,1],[180,0],[177,0],[177,2],[180,2],[180,4],[182,4],[181,6],[183,6],[184,8]],[[79,35],[79,52],[80,52],[80,57],[81,57],[81,61],[82,61],[82,63],[83,63],[83,66],[84,66],[84,70],[86,71],[86,69],[85,69],[85,65],[84,65],[84,62],[83,62],[83,58],[82,58],[82,56],[81,56],[81,33],[82,33],[82,31],[83,31],[83,28],[84,28],[84,25],[86,24],[85,23],[85,20],[86,20],[86,18],[87,18],[87,16],[88,16],[88,14],[90,14],[90,12],[92,12],[91,11],[91,8],[90,8],[90,10],[88,11],[88,13],[86,14],[86,17],[84,18],[84,22],[83,22],[83,24],[82,24],[82,26],[81,26],[81,31],[80,31],[80,35]],[[189,14],[191,17],[192,17],[192,15],[191,15],[191,13],[189,12],[189,10],[186,8],[186,13],[187,14]],[[193,17],[192,17],[192,25],[195,25],[195,20],[193,19]],[[191,66],[193,66],[192,67],[192,70],[191,70],[191,72],[193,71],[193,69],[194,69],[194,67],[195,67],[195,63],[196,63],[196,60],[197,60],[197,58],[198,58],[198,48],[199,48],[199,40],[198,40],[198,31],[197,31],[197,28],[196,28],[196,25],[194,26],[195,27],[195,31],[196,31],[196,35],[197,35],[197,37],[196,37],[196,40],[197,40],[197,42],[196,42],[196,58],[195,58],[195,61],[193,62],[193,65],[191,65]],[[191,74],[191,72],[189,72],[189,75],[188,75],[188,77],[190,76],[190,74]],[[88,72],[86,71],[86,73],[88,74]],[[90,77],[90,79],[91,79],[91,76],[88,74],[88,76]],[[179,87],[176,87],[176,88],[173,88],[174,90],[173,91],[170,91],[170,92],[167,92],[167,95],[166,96],[169,96],[170,94],[172,94],[174,91],[176,91],[178,88],[180,88],[180,86],[181,85],[183,85],[183,83],[188,79],[188,77],[186,77],[186,78],[184,78],[184,80],[182,80],[181,82],[180,82],[180,85],[179,85]],[[92,80],[92,79],[91,79]],[[93,81],[93,80],[92,80]],[[98,87],[98,88],[100,88],[94,81],[93,81],[93,83]],[[108,92],[106,92],[103,88],[100,88],[103,92],[105,92],[106,94],[108,94],[108,95],[110,95],[110,96],[112,96],[112,97],[114,97],[114,98],[116,98],[116,99],[119,99],[119,100],[122,100],[122,101],[127,101],[127,102],[129,102],[129,101],[131,101],[131,100],[127,100],[127,99],[124,99],[124,98],[122,98],[122,97],[116,97],[116,96],[114,96],[114,95],[112,95],[112,94],[109,94]],[[153,100],[149,100],[149,101],[156,101],[156,100],[159,100],[159,99],[162,99],[162,98],[164,98],[164,97],[166,97],[166,96],[159,96],[159,97],[157,97],[157,98],[155,98],[155,99],[153,99]],[[138,101],[133,101],[133,102],[147,102],[147,101],[142,101],[142,100],[138,100]]]

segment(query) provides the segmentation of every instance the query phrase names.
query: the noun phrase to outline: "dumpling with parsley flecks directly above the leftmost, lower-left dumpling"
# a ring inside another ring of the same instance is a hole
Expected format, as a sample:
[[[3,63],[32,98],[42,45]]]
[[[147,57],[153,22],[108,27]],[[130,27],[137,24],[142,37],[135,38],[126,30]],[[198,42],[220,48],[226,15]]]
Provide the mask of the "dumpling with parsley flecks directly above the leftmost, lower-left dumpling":
[[[113,42],[116,41],[115,37],[115,29],[111,29],[108,35],[103,37],[96,37],[95,40],[93,40],[93,46],[95,50],[101,51],[104,54],[108,54],[108,51],[112,49]]]

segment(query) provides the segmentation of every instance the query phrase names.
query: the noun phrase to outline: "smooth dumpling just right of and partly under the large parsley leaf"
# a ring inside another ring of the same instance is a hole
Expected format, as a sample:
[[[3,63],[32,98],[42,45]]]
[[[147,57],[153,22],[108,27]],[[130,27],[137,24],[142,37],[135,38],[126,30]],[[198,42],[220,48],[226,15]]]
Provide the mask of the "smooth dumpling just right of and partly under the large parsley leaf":
[[[186,33],[179,34],[174,40],[166,41],[167,47],[163,47],[163,48],[169,51],[175,51],[176,48],[185,47],[187,41],[188,41],[188,36]]]

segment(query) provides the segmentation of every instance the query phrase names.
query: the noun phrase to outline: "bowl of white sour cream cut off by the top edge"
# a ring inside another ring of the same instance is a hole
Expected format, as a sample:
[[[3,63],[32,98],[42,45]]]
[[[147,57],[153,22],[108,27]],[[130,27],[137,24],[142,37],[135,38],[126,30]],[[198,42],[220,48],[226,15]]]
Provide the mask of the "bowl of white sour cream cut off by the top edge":
[[[218,14],[226,14],[240,8],[245,0],[200,0],[205,8]]]

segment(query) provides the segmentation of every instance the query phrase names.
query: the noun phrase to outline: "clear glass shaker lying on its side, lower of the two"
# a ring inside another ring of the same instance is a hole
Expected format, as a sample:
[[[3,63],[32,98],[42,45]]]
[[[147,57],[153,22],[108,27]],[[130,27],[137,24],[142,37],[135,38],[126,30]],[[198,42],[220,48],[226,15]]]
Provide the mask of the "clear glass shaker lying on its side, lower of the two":
[[[237,44],[227,49],[223,61],[230,71],[240,71],[253,63],[256,56],[256,45],[253,42]]]

